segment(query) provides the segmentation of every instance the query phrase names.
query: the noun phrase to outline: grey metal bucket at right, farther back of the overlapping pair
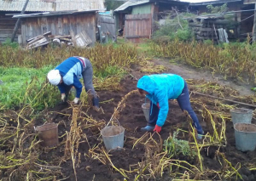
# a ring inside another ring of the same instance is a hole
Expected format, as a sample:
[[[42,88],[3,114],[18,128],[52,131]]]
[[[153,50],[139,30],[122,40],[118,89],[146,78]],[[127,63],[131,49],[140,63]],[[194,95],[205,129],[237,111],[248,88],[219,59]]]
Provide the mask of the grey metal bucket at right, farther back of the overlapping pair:
[[[251,123],[253,118],[253,110],[237,108],[230,110],[233,125],[236,123]]]

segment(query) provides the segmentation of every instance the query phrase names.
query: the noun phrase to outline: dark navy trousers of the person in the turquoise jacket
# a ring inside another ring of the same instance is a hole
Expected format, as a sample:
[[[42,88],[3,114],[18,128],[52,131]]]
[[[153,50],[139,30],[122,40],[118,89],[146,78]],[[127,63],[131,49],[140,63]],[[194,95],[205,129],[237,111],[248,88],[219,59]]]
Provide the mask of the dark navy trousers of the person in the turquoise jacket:
[[[189,101],[189,88],[187,82],[184,82],[184,88],[183,92],[177,97],[177,103],[181,110],[187,110],[189,112],[189,116],[193,120],[193,126],[196,128],[197,133],[203,133],[203,130],[201,128],[201,125],[198,121],[197,116],[195,115],[194,110],[192,109]],[[155,126],[156,121],[158,119],[159,114],[159,108],[157,105],[154,105],[152,102],[150,102],[150,115],[149,115],[149,126]]]

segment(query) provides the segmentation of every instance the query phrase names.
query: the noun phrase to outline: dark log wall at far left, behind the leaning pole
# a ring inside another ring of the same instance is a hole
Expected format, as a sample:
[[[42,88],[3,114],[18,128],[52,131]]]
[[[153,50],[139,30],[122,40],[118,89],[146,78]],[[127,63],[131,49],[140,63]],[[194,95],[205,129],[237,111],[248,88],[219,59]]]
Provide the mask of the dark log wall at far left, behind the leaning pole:
[[[17,19],[12,19],[12,16],[0,14],[0,42],[4,42],[7,38],[11,38],[15,29]],[[20,29],[18,29],[15,41],[18,40]]]

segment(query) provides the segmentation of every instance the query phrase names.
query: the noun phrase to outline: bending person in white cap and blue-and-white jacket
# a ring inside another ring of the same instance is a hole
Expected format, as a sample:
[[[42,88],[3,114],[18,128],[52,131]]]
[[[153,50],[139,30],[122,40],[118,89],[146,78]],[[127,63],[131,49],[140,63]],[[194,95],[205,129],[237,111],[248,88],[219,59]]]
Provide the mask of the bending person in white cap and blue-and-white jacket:
[[[92,84],[92,65],[89,59],[84,57],[70,57],[65,59],[54,70],[49,71],[47,78],[52,85],[58,86],[61,92],[61,100],[67,102],[67,96],[72,87],[76,89],[76,97],[73,99],[74,104],[79,103],[82,92],[82,84],[79,79],[83,77],[84,88],[88,93],[93,94],[93,105],[99,108],[99,99]]]

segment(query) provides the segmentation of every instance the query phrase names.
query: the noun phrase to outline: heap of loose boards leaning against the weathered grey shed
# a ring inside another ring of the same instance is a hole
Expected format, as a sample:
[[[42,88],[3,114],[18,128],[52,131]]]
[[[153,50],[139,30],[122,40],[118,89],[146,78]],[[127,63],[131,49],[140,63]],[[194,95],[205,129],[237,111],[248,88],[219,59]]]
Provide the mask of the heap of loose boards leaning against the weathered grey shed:
[[[52,35],[50,31],[32,37],[26,40],[26,49],[39,48],[47,46],[49,43],[53,43],[55,46],[68,45],[68,46],[79,46],[88,47],[92,40],[85,31],[81,31],[79,34],[74,35],[73,31],[70,31],[70,35]]]

